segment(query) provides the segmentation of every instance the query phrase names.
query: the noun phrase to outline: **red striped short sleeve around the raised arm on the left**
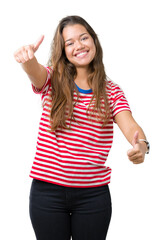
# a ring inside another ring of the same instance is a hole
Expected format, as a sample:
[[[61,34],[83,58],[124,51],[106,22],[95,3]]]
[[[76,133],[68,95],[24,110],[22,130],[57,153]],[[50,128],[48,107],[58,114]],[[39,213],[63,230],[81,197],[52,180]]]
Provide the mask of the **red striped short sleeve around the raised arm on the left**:
[[[46,78],[44,86],[41,89],[38,89],[32,84],[32,89],[33,89],[34,93],[36,93],[36,94],[46,95],[47,92],[49,91],[49,88],[50,88],[50,85],[51,85],[52,69],[50,67],[46,67],[46,66],[44,66],[44,67],[47,71],[47,78]]]

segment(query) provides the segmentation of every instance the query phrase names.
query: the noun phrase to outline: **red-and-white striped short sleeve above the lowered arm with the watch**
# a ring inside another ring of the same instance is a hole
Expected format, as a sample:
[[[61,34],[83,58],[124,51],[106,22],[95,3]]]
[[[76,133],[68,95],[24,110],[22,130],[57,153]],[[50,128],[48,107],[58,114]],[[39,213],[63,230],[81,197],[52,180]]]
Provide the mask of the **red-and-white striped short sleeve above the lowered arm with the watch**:
[[[131,112],[129,103],[123,90],[113,82],[111,82],[111,111],[113,119],[118,113],[122,111]]]

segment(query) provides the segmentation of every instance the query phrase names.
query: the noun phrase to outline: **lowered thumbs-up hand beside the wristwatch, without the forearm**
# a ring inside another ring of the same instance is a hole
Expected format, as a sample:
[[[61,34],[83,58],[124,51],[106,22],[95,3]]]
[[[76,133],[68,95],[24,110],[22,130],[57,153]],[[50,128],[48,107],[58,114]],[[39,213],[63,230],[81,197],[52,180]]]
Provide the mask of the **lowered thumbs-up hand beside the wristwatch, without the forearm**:
[[[145,148],[146,146],[144,143],[139,142],[139,132],[136,131],[132,140],[133,148],[128,150],[127,155],[130,161],[134,164],[139,164],[144,162],[145,158]]]

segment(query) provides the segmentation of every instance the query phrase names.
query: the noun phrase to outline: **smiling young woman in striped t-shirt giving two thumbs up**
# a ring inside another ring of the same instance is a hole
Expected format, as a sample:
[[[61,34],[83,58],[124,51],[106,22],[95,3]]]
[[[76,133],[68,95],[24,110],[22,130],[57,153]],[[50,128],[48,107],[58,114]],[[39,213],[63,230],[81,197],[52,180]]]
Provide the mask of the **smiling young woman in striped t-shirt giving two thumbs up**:
[[[112,212],[104,166],[116,122],[132,144],[128,158],[144,161],[149,150],[119,86],[107,78],[94,30],[79,16],[63,18],[48,67],[34,53],[43,41],[18,49],[43,112],[30,176],[30,217],[38,240],[104,240]]]

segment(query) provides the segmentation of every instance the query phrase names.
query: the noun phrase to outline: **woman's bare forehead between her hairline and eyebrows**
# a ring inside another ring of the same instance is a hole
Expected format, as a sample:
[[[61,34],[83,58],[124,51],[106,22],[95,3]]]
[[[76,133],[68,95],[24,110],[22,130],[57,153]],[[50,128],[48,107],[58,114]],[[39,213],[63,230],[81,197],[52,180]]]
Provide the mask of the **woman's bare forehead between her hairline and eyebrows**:
[[[74,24],[66,26],[63,29],[62,35],[63,39],[66,41],[68,39],[78,38],[83,33],[88,33],[86,28],[81,24]]]

